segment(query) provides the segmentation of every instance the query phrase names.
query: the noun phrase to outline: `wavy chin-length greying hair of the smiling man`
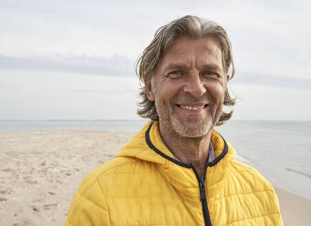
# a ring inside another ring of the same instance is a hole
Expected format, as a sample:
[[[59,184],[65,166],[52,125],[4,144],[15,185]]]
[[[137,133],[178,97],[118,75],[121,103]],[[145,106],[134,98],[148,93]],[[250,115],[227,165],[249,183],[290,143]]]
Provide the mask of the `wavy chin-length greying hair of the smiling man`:
[[[162,26],[156,31],[153,40],[147,48],[144,49],[136,63],[136,74],[140,79],[140,83],[143,83],[144,85],[151,83],[151,89],[154,88],[154,71],[156,70],[156,66],[168,48],[175,43],[178,37],[189,37],[190,39],[212,37],[215,39],[222,50],[222,65],[224,72],[228,73],[231,66],[232,72],[230,79],[233,78],[235,75],[235,65],[233,63],[231,43],[226,30],[213,21],[187,15],[171,21],[171,23]],[[144,87],[140,88],[139,95],[142,100],[138,102],[139,107],[137,114],[142,116],[142,118],[159,120],[156,105],[154,101],[149,101]],[[226,91],[224,94],[224,105],[235,105],[235,99],[233,99],[228,92],[228,83],[226,84]],[[222,125],[228,121],[232,114],[233,110],[230,110],[228,113],[222,112],[216,125]]]

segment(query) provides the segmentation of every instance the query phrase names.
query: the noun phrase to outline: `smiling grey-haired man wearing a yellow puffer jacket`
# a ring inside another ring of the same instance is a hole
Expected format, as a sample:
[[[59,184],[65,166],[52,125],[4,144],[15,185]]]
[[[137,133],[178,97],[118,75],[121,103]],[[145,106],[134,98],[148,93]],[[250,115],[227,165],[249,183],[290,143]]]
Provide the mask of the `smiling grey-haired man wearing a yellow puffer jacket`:
[[[226,31],[182,17],[138,62],[138,114],[152,121],[85,178],[66,225],[283,225],[272,185],[213,130],[230,119],[223,105],[235,104]]]

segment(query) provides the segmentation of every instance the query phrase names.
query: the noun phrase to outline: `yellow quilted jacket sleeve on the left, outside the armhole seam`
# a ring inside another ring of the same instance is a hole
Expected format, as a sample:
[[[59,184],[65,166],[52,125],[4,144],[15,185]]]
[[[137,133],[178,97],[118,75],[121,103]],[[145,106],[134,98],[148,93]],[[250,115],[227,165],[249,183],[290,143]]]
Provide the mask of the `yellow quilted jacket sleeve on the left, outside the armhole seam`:
[[[96,176],[87,176],[72,200],[65,226],[110,225],[104,192]]]

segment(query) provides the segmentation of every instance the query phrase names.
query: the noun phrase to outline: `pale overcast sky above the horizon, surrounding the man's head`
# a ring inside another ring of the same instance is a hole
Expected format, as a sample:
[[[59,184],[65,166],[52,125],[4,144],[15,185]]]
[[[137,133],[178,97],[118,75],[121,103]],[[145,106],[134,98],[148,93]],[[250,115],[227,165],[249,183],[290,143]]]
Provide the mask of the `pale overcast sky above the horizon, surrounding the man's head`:
[[[160,26],[222,25],[233,119],[311,120],[310,1],[0,1],[0,120],[140,119],[134,65]]]

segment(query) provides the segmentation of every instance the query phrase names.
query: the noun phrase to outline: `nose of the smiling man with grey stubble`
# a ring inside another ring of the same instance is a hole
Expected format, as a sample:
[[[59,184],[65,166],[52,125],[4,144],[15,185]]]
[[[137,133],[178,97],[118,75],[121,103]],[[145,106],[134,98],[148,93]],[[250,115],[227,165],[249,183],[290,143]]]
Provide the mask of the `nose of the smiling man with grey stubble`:
[[[184,92],[188,92],[195,97],[202,96],[206,92],[206,88],[204,87],[199,74],[188,77],[186,85],[184,85]]]

